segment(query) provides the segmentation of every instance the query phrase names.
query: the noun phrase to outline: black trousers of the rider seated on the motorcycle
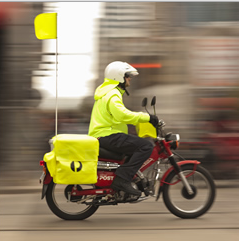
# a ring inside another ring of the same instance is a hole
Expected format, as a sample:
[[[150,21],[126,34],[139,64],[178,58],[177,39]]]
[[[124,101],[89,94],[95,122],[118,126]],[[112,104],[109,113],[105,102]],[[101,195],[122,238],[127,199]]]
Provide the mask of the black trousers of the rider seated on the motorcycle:
[[[153,144],[146,139],[124,133],[99,138],[100,147],[131,156],[129,161],[117,168],[115,174],[131,181],[135,173],[150,157]]]

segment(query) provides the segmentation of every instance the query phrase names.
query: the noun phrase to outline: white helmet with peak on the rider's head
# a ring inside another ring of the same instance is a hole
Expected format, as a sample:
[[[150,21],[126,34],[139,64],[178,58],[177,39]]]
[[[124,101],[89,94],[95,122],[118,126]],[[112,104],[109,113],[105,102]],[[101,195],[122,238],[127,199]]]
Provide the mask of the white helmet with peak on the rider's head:
[[[126,62],[114,61],[105,68],[105,78],[124,83],[124,77],[138,75],[137,69]],[[126,76],[125,76],[126,75]]]

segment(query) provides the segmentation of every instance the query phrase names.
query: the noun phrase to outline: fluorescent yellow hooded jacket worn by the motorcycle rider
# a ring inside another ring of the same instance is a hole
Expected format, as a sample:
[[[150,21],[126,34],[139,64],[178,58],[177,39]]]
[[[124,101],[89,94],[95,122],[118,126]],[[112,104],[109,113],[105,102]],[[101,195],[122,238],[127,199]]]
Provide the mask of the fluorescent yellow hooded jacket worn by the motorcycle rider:
[[[117,81],[105,79],[104,83],[96,89],[89,136],[98,138],[116,133],[128,134],[127,124],[137,125],[149,122],[149,114],[133,112],[124,106],[122,96],[125,91],[117,85]]]

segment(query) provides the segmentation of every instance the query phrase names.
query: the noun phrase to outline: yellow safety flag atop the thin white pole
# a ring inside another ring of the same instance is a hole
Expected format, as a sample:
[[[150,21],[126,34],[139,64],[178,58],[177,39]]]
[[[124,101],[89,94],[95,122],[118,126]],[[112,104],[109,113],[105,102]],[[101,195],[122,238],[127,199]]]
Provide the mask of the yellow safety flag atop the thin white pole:
[[[41,13],[35,17],[35,34],[38,39],[57,38],[57,13]]]

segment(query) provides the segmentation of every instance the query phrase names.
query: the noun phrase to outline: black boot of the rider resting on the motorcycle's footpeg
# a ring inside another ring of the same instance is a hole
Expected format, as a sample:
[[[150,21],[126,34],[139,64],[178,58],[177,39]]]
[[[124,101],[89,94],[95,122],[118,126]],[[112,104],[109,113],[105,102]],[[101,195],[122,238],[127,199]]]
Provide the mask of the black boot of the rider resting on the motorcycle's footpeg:
[[[126,193],[135,195],[135,196],[140,196],[141,191],[135,189],[132,187],[131,182],[126,181],[125,179],[116,176],[115,179],[113,180],[111,186],[112,189],[115,191],[124,191]]]

